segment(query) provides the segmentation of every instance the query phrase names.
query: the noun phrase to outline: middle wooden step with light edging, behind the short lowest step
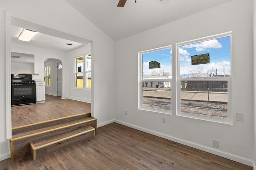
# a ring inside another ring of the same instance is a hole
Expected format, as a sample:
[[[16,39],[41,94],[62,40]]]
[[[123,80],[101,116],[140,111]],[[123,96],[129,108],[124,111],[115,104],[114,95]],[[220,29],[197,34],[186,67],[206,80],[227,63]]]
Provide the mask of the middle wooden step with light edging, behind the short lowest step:
[[[50,123],[44,121],[42,123],[33,123],[26,125],[25,127],[15,128],[15,133],[10,139],[11,158],[14,159],[14,156],[18,157],[30,153],[30,142],[32,141],[44,140],[88,126],[91,126],[96,130],[97,119],[88,117],[88,115],[90,114],[84,113],[60,119],[53,119],[49,121]],[[18,132],[18,129],[20,129],[20,133]]]

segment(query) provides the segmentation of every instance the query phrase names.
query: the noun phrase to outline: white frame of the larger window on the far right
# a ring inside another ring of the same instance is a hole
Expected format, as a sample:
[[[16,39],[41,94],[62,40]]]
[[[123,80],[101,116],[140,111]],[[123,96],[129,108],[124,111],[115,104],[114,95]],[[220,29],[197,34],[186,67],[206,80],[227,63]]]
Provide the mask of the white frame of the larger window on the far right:
[[[228,37],[228,36],[230,37],[230,77],[180,78],[180,55],[179,55],[180,46],[199,43],[202,41],[208,41],[208,40],[222,38],[222,37]],[[232,74],[233,73],[232,72],[232,31],[217,34],[217,35],[212,35],[208,37],[203,37],[203,38],[195,39],[191,41],[176,43],[175,68],[176,68],[176,96],[175,96],[176,97],[176,115],[182,116],[182,117],[189,117],[193,119],[213,121],[218,123],[226,123],[226,124],[233,123],[233,120],[232,120],[232,75],[233,75]],[[181,112],[181,89],[180,89],[181,81],[228,81],[228,117],[227,119]]]

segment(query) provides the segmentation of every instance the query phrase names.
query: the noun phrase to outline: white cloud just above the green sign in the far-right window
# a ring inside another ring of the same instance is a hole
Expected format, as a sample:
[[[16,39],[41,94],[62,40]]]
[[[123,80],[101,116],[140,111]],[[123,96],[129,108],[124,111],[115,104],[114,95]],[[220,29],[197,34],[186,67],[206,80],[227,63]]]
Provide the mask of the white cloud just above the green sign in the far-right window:
[[[197,52],[200,51],[206,51],[206,49],[219,49],[222,47],[222,45],[218,42],[216,39],[211,39],[208,41],[203,41],[200,43],[194,43],[194,44],[189,44],[189,45],[184,45],[182,46],[183,48],[196,48]]]

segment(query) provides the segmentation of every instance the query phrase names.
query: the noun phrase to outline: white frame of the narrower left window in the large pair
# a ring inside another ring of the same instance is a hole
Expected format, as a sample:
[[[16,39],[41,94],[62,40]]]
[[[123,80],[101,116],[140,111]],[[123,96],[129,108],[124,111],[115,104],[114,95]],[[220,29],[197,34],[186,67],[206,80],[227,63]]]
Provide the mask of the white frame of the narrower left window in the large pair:
[[[156,78],[156,79],[143,79],[143,62],[142,62],[142,55],[145,53],[151,53],[154,51],[160,51],[164,49],[172,49],[172,45],[168,45],[165,47],[159,47],[155,49],[150,49],[146,51],[140,51],[138,52],[138,109],[139,110],[145,110],[145,111],[153,111],[157,113],[165,113],[165,114],[172,114],[172,100],[170,100],[170,110],[165,109],[157,109],[157,108],[151,108],[151,107],[144,107],[143,106],[143,82],[170,82],[170,85],[172,86],[172,78]],[[172,64],[173,65],[173,64]],[[171,69],[172,70],[172,69]],[[170,98],[172,98],[172,92],[170,93]]]

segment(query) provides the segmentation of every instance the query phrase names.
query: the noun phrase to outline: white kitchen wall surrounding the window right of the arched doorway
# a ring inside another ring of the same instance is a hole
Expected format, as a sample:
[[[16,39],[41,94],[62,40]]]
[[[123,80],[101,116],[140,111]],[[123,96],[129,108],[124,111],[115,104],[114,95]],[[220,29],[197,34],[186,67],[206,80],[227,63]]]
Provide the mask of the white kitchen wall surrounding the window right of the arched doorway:
[[[79,100],[82,102],[91,103],[91,89],[77,89],[74,88],[74,58],[91,52],[91,45],[84,45],[78,49],[69,51],[68,55],[68,77],[73,77],[68,81],[68,98],[73,100]]]

